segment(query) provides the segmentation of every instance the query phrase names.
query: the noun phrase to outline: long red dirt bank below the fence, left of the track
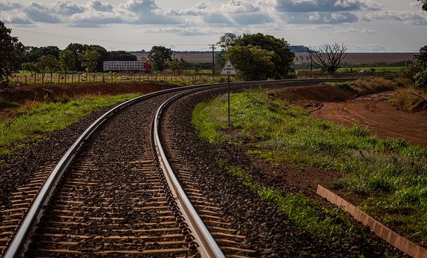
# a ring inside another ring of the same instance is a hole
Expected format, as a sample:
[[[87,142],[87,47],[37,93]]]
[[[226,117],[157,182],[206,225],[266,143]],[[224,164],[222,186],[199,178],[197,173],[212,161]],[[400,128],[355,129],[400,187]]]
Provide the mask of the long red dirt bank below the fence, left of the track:
[[[26,85],[0,89],[0,98],[10,102],[24,104],[28,101],[53,101],[64,98],[76,98],[85,95],[118,95],[129,93],[149,94],[162,89],[178,87],[167,83],[89,83],[66,85]],[[17,108],[0,109],[0,121],[11,116]]]

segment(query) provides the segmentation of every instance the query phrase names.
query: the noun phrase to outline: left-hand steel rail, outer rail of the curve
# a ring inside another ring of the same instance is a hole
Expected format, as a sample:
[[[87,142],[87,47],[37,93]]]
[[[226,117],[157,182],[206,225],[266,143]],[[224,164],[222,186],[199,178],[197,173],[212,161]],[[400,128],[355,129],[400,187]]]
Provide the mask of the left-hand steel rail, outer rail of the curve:
[[[269,80],[269,81],[252,81],[252,82],[235,82],[231,83],[232,85],[267,85],[272,83],[318,83],[323,81],[342,81],[342,80],[355,80],[357,78],[347,78],[347,79],[304,79],[304,80]],[[28,248],[28,245],[30,244],[30,235],[32,234],[32,230],[34,230],[34,226],[37,225],[37,223],[40,222],[41,217],[43,216],[43,212],[45,211],[46,207],[48,206],[48,203],[50,202],[50,199],[56,189],[56,186],[59,184],[63,173],[67,169],[67,167],[70,165],[72,160],[74,159],[74,156],[81,148],[81,145],[100,127],[103,125],[103,123],[116,114],[121,109],[128,107],[129,105],[132,105],[138,101],[145,100],[147,98],[152,98],[154,96],[159,96],[161,94],[166,94],[170,92],[177,92],[185,89],[198,89],[198,88],[214,88],[214,87],[225,87],[227,86],[226,83],[215,83],[215,84],[208,84],[208,85],[195,85],[195,86],[189,86],[189,87],[177,87],[174,89],[164,89],[159,92],[154,92],[151,94],[146,94],[144,96],[140,96],[138,98],[134,98],[132,100],[127,100],[125,103],[121,103],[120,105],[117,105],[116,107],[112,108],[110,111],[107,111],[103,116],[98,118],[95,122],[90,125],[82,134],[81,136],[72,144],[72,147],[67,150],[67,152],[63,155],[61,160],[56,164],[54,170],[49,175],[48,179],[43,183],[43,186],[39,193],[37,194],[37,197],[34,199],[34,202],[32,203],[32,206],[28,210],[27,215],[25,216],[25,219],[23,220],[23,223],[19,227],[19,230],[17,231],[16,235],[14,236],[12,243],[10,244],[6,254],[4,257],[6,258],[14,258],[19,257],[19,255],[23,255],[26,248]]]

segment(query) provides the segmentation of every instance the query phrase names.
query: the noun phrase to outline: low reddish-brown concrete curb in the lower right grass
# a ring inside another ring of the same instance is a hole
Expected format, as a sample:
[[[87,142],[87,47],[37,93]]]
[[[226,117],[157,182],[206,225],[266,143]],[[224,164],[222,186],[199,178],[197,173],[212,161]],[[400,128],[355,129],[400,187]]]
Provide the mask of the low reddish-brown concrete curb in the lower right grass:
[[[365,226],[369,226],[375,235],[381,237],[395,248],[405,252],[407,255],[415,258],[427,258],[427,249],[417,246],[408,239],[398,235],[390,228],[379,223],[373,217],[367,215],[353,204],[342,199],[342,197],[324,188],[320,184],[317,185],[317,194],[326,198],[329,202],[344,208],[344,211],[350,213],[355,219],[362,222]]]

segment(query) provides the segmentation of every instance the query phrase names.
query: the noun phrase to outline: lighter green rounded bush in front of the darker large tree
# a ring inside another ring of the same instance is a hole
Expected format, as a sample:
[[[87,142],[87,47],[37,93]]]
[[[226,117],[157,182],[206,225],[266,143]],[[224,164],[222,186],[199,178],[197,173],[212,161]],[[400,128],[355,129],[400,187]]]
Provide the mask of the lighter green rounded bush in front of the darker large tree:
[[[237,69],[237,76],[242,80],[265,80],[274,75],[274,51],[263,50],[259,46],[230,47],[225,54]]]

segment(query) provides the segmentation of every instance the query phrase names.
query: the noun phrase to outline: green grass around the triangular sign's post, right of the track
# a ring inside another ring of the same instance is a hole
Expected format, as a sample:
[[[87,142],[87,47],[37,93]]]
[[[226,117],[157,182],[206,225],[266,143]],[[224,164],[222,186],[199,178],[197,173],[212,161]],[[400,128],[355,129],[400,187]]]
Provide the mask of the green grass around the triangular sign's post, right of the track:
[[[365,211],[406,237],[427,240],[426,149],[371,136],[357,125],[316,120],[300,107],[284,105],[273,91],[233,94],[229,130],[226,117],[222,96],[197,105],[193,122],[209,142],[249,144],[249,155],[277,164],[293,161],[344,173],[335,189],[362,196]]]

